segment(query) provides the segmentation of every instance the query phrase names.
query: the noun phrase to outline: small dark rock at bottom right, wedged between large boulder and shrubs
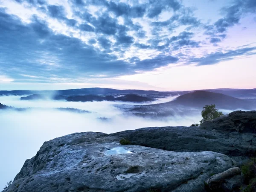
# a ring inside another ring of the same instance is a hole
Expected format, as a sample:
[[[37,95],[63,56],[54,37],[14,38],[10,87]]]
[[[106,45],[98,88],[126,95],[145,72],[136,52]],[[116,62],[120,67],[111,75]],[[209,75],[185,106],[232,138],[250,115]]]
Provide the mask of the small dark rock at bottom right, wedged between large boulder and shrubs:
[[[238,167],[233,167],[222,173],[213,175],[206,180],[209,192],[240,192],[243,176]]]

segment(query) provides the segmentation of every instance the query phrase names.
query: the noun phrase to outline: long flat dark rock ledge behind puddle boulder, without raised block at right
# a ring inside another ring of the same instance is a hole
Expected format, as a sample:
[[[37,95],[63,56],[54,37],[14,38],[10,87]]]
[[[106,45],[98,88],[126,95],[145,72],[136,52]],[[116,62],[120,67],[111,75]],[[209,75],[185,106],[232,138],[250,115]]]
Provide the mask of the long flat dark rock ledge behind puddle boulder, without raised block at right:
[[[132,145],[168,151],[214,151],[232,157],[256,154],[256,134],[204,130],[199,127],[154,127],[111,134]]]

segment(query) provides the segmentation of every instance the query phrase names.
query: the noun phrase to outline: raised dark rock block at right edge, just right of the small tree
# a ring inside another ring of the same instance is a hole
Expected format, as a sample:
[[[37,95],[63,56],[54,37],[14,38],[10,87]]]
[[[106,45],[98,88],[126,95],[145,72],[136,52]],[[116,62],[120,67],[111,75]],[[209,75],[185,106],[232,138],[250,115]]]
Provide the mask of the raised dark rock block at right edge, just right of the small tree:
[[[218,131],[256,133],[256,111],[233,111],[228,116],[204,122],[200,128]]]

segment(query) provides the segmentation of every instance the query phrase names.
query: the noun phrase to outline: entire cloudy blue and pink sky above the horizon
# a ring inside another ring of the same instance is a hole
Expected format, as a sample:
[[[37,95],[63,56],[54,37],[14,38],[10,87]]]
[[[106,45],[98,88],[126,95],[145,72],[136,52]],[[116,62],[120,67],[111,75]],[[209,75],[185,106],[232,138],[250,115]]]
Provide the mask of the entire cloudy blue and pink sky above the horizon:
[[[256,88],[256,0],[0,0],[0,90]]]

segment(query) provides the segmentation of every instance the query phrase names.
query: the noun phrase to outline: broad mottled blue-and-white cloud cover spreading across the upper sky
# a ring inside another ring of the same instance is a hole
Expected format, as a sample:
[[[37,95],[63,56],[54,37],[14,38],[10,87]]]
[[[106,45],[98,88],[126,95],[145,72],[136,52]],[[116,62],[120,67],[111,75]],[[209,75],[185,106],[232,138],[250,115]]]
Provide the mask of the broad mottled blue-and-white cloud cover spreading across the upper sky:
[[[191,59],[214,64],[221,57],[214,46],[256,8],[254,0],[234,0],[221,9],[223,17],[203,23],[181,0],[13,1],[30,11],[0,8],[0,71],[17,82],[31,81],[20,74],[53,82],[144,73]],[[216,50],[208,54],[207,46]]]

